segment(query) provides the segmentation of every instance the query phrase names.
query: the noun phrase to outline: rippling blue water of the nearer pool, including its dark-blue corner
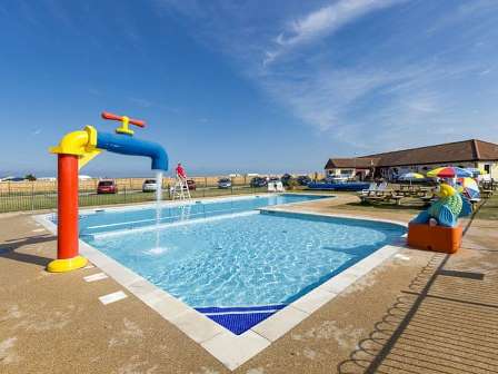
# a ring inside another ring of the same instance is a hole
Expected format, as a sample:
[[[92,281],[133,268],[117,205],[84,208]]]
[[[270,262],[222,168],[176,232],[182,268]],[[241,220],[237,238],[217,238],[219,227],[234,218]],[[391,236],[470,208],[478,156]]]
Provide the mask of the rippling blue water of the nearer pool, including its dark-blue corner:
[[[86,240],[241,334],[404,234],[394,224],[246,209]]]

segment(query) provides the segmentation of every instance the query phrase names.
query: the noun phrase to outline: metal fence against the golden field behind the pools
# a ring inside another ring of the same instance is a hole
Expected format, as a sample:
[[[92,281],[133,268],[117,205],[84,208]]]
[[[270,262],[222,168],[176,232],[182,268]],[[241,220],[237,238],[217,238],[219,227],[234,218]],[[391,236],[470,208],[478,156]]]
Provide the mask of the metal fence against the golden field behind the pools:
[[[81,180],[79,186],[79,206],[100,206],[114,204],[133,204],[152,201],[156,193],[143,193],[141,187],[146,178],[117,179],[117,194],[97,194],[98,180]],[[196,188],[190,190],[192,198],[223,195],[261,194],[266,187],[255,188],[250,180],[232,178],[230,188],[218,188],[218,178],[191,178]],[[162,183],[163,200],[171,199],[172,180],[165,178]],[[57,181],[22,181],[0,184],[0,213],[39,210],[57,208]]]

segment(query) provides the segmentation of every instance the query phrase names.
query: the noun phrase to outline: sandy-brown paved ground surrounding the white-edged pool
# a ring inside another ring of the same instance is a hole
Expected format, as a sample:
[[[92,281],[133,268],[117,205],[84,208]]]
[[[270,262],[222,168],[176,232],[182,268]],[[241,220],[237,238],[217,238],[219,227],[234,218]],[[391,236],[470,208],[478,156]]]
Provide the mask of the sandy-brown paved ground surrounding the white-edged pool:
[[[300,209],[411,218],[340,203]],[[497,228],[472,222],[450,257],[402,249],[236,373],[497,373]],[[133,295],[103,305],[123,289],[83,279],[98,268],[46,273],[54,255],[54,237],[29,215],[0,216],[1,373],[229,372]]]

